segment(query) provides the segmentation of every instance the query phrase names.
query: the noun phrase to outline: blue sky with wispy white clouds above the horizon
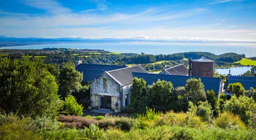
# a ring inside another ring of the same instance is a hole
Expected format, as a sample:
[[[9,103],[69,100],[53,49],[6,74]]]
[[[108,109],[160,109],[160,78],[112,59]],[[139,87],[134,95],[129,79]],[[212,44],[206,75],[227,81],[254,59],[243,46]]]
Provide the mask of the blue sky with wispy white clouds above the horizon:
[[[256,0],[0,0],[0,35],[256,41]]]

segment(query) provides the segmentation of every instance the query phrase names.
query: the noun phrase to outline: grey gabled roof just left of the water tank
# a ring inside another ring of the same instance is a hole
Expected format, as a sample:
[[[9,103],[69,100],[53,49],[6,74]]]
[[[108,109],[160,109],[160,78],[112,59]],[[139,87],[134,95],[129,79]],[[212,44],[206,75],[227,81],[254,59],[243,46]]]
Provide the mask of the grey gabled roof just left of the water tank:
[[[167,68],[160,72],[159,74],[169,74],[169,75],[188,75],[188,68],[184,64],[176,65],[171,68]]]

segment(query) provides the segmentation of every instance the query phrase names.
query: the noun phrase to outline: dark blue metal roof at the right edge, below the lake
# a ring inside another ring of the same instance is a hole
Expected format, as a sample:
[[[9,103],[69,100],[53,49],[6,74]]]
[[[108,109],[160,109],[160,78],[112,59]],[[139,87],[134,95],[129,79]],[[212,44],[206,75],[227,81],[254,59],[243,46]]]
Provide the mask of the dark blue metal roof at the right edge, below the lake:
[[[227,86],[232,83],[241,83],[245,90],[249,90],[251,87],[256,89],[256,77],[229,76]]]

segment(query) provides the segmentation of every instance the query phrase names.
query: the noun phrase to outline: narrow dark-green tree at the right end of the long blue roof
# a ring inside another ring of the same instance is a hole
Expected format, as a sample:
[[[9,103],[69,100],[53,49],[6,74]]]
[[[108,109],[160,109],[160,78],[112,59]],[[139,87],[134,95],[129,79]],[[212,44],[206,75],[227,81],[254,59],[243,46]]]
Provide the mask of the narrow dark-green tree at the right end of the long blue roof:
[[[207,91],[206,92],[206,97],[208,102],[211,104],[211,107],[213,109],[213,116],[218,117],[220,110],[219,110],[219,102],[218,102],[218,97],[216,97],[216,93],[214,90]]]

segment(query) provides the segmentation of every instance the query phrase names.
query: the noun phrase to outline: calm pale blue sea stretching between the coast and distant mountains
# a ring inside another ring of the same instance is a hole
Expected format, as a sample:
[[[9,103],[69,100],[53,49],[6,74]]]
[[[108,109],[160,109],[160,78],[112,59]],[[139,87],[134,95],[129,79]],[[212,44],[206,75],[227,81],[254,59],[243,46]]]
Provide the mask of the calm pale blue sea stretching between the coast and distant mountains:
[[[129,43],[84,43],[84,44],[49,44],[3,47],[0,49],[42,49],[42,48],[73,48],[73,49],[104,49],[110,52],[171,54],[178,52],[211,52],[216,55],[235,52],[245,54],[246,57],[256,56],[256,44],[227,44],[227,43],[156,43],[156,42],[129,42]]]

